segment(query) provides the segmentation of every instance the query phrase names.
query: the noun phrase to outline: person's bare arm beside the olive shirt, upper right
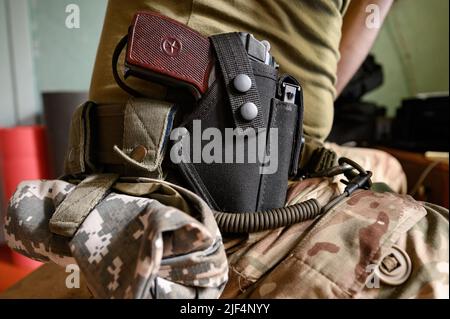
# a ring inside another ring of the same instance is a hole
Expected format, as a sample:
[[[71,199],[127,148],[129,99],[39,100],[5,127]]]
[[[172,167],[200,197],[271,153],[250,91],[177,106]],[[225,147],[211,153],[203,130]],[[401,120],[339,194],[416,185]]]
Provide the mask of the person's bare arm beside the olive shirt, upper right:
[[[369,53],[379,28],[366,26],[366,19],[373,12],[366,12],[369,5],[379,8],[380,27],[391,8],[393,0],[353,0],[344,15],[342,38],[339,45],[341,59],[337,66],[336,96],[341,94],[347,83]],[[369,7],[370,8],[370,7]]]

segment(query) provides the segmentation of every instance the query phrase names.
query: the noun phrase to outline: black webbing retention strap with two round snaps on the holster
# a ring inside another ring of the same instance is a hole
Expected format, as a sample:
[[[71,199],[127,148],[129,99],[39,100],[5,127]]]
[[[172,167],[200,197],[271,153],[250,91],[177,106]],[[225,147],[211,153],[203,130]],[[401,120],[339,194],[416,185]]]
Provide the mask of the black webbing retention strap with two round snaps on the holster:
[[[265,128],[253,69],[239,35],[237,33],[224,33],[213,35],[210,38],[225,81],[235,126],[243,130],[249,127]],[[233,80],[238,74],[246,74],[252,80],[251,88],[245,93],[234,89]],[[244,120],[239,111],[240,107],[247,102],[253,102],[258,108],[258,115],[252,121]]]

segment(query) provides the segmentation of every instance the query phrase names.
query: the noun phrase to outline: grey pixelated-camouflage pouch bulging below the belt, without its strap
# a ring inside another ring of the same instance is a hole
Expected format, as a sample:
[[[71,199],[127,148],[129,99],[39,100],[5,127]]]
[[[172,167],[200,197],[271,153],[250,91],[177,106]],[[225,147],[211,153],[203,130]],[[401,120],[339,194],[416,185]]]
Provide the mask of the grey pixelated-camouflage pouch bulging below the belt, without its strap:
[[[48,225],[75,186],[59,180],[21,183],[6,216],[8,244],[43,262],[77,263],[95,297],[219,297],[228,265],[203,201],[160,181],[115,187],[68,239]]]

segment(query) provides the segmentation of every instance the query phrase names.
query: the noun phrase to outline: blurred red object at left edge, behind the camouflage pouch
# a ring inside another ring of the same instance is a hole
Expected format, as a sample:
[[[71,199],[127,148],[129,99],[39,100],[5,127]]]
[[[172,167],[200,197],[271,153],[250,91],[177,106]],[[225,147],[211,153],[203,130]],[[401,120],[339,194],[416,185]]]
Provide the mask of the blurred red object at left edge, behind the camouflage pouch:
[[[44,126],[0,128],[0,182],[4,205],[1,207],[2,212],[21,181],[51,177],[45,134]],[[1,215],[3,218],[3,213]],[[10,268],[15,267],[18,274],[26,274],[41,265],[6,247],[2,250],[3,256],[9,255],[6,262],[9,262]]]

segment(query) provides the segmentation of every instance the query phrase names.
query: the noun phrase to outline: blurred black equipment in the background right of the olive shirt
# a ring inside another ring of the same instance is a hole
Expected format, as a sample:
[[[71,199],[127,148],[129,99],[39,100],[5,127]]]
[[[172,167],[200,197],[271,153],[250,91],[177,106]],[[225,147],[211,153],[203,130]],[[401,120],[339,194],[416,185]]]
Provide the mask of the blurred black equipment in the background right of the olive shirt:
[[[386,108],[362,101],[364,94],[383,83],[383,69],[369,55],[335,101],[330,142],[355,146],[387,146],[423,153],[449,150],[449,97],[421,94],[402,101],[393,119]]]

